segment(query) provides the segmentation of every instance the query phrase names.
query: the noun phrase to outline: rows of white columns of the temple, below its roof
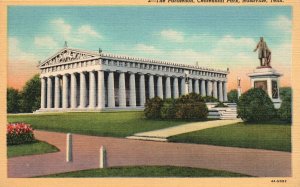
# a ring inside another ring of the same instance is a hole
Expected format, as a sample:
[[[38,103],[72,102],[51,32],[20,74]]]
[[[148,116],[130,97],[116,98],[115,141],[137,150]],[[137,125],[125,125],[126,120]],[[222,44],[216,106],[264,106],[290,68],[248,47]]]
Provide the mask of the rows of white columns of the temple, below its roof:
[[[146,100],[187,93],[227,101],[226,81],[122,71],[75,72],[41,78],[41,109],[143,107]]]

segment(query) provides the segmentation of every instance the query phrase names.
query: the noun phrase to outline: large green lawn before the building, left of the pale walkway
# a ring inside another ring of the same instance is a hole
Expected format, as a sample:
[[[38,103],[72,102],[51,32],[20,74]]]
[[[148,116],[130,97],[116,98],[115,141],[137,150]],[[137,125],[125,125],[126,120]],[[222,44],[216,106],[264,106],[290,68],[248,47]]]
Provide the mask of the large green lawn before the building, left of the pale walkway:
[[[176,126],[184,121],[149,120],[143,112],[97,112],[8,115],[8,122],[26,122],[34,129],[126,137],[138,132]]]

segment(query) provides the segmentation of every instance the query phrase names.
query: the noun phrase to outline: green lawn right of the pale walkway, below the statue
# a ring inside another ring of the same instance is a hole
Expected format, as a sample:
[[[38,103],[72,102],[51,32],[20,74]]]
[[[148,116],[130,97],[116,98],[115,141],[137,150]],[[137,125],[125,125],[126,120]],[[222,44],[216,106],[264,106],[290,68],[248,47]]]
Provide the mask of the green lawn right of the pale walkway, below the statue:
[[[238,123],[172,136],[168,140],[291,152],[291,125]]]

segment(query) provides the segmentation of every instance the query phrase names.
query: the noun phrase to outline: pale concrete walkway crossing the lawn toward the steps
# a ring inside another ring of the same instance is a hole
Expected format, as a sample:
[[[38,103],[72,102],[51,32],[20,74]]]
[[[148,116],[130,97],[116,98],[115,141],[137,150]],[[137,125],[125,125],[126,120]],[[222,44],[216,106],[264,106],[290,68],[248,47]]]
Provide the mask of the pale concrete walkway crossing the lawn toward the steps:
[[[213,121],[203,121],[203,122],[194,122],[184,125],[178,125],[175,127],[169,127],[165,129],[159,129],[154,131],[136,133],[133,136],[128,136],[126,138],[136,139],[136,140],[152,140],[152,141],[167,141],[167,138],[170,136],[199,131],[203,129],[220,127],[224,125],[231,125],[234,123],[242,122],[240,119],[234,120],[213,120]]]

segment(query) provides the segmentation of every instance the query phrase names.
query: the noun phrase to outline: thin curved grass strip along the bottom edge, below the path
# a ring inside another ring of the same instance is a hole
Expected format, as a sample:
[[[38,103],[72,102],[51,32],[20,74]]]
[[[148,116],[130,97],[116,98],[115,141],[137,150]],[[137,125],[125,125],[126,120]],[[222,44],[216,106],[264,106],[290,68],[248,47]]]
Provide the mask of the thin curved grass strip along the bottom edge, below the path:
[[[249,177],[247,175],[189,167],[136,166],[91,169],[41,177]]]

